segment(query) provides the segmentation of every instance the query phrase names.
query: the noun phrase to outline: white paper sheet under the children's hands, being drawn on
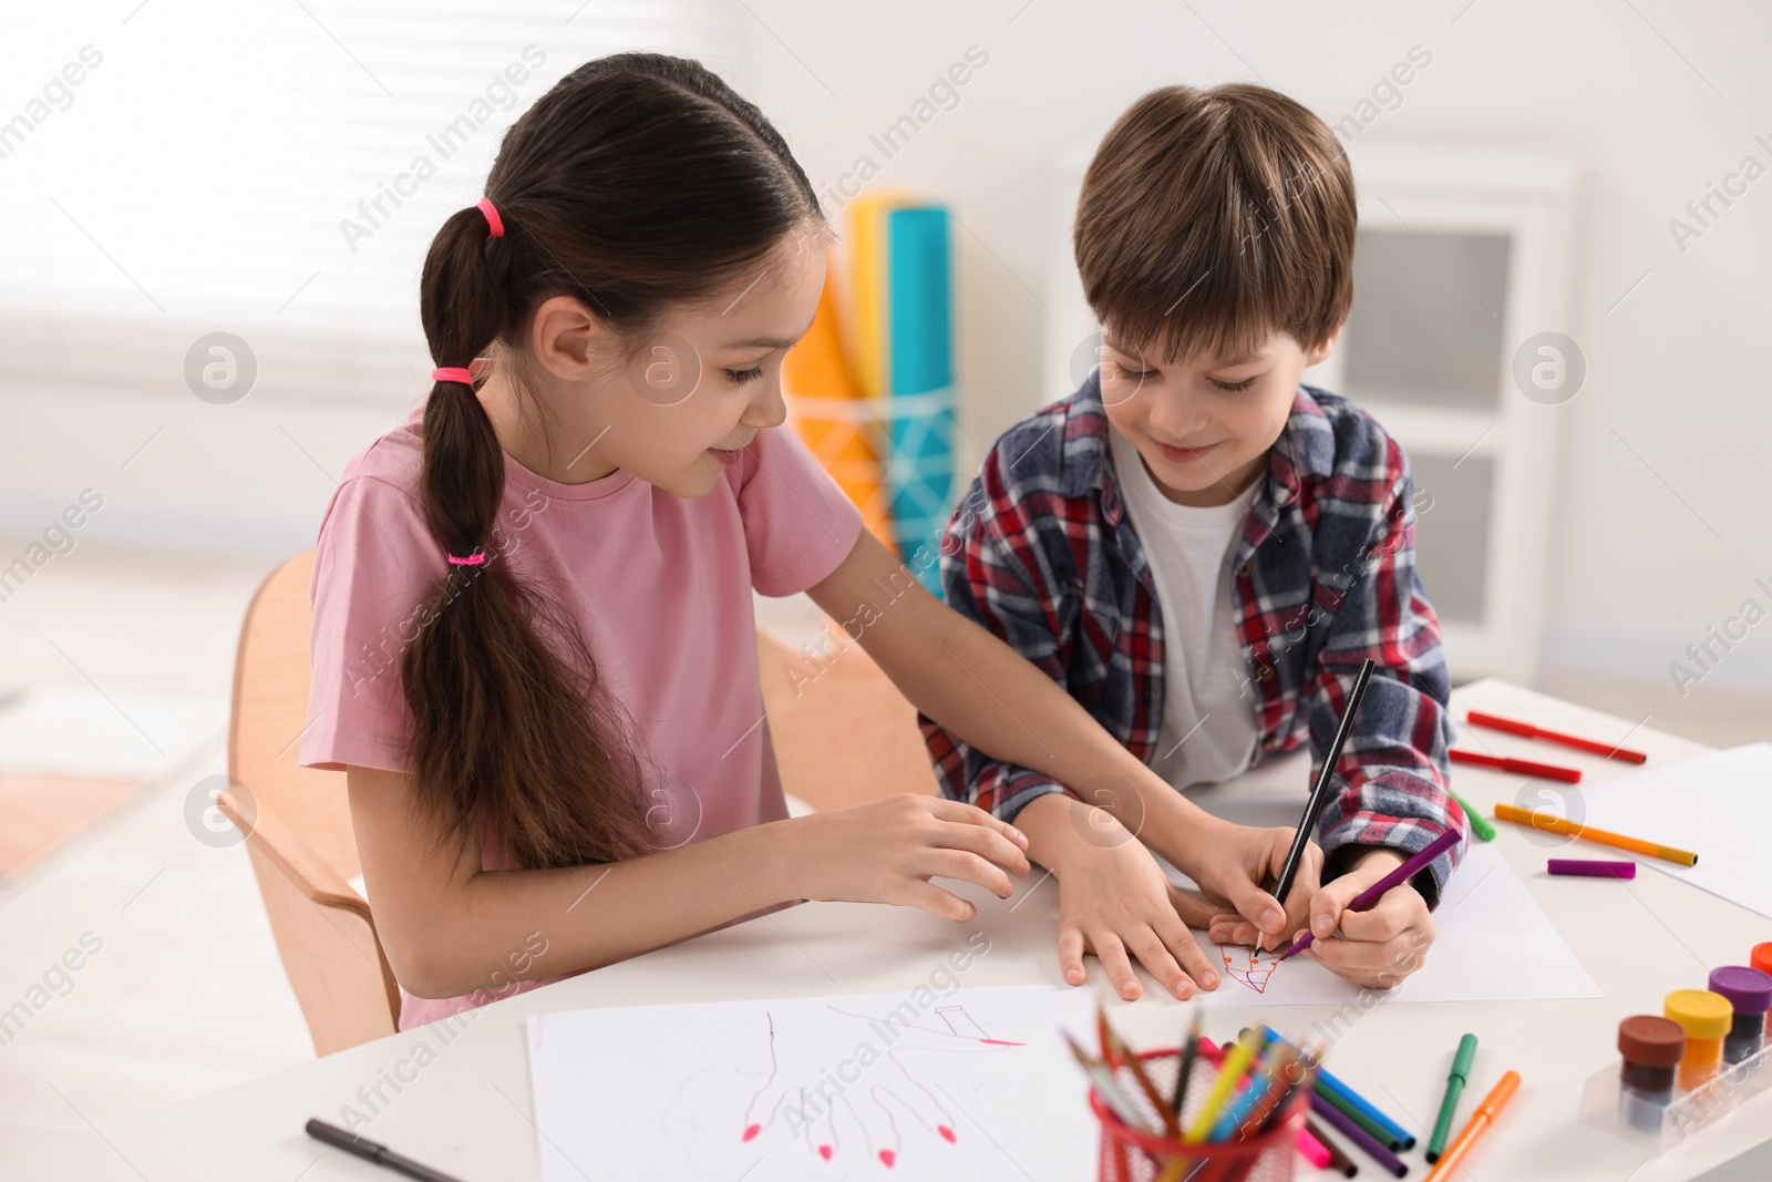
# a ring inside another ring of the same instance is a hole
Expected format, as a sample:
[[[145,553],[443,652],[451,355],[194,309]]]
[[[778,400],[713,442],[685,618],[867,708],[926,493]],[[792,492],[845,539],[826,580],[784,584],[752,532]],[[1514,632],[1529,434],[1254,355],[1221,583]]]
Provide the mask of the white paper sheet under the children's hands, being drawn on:
[[[1207,803],[1237,824],[1297,826],[1302,797],[1240,797]],[[1166,867],[1171,879],[1193,886]],[[1370,1005],[1379,1001],[1540,1001],[1598,998],[1593,978],[1568,950],[1501,852],[1474,842],[1434,909],[1437,936],[1425,966],[1389,991],[1361,989],[1310,957],[1278,962],[1249,948],[1194,937],[1217,955],[1223,980],[1201,992],[1207,1007]]]

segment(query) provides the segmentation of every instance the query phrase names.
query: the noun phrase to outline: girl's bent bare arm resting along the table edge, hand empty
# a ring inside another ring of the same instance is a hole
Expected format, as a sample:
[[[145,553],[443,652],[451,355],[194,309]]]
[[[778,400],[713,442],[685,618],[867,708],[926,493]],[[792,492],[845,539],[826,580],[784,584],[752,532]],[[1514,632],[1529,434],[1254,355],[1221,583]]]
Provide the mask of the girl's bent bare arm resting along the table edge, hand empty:
[[[989,813],[923,796],[774,820],[620,863],[480,870],[466,838],[438,856],[411,774],[349,767],[351,822],[395,978],[454,998],[663,948],[799,898],[845,898],[973,918],[932,886],[964,879],[1006,898],[1028,838]],[[535,934],[544,952],[537,953]],[[528,955],[526,955],[528,953]]]

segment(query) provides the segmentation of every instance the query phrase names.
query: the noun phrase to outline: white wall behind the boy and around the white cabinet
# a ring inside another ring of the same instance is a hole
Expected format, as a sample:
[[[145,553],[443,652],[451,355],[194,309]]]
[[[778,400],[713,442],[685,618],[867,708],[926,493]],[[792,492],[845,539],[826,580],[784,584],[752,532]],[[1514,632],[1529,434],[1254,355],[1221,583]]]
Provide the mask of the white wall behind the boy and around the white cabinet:
[[[748,0],[755,16],[741,25],[742,85],[820,186],[969,44],[991,55],[959,106],[881,174],[946,195],[966,227],[959,351],[971,455],[1045,395],[1042,299],[1051,236],[1065,229],[1044,204],[1054,161],[1093,151],[1138,94],[1173,82],[1262,82],[1334,122],[1421,44],[1432,64],[1350,145],[1356,179],[1361,149],[1393,138],[1520,140],[1581,161],[1568,331],[1589,377],[1563,408],[1558,491],[1545,505],[1545,665],[1666,679],[1667,663],[1744,599],[1772,611],[1772,590],[1754,585],[1772,588],[1772,397],[1761,376],[1772,175],[1733,207],[1715,206],[1722,216],[1683,252],[1667,229],[1744,156],[1772,168],[1772,11],[1022,4],[916,0],[836,19],[812,0]],[[1714,668],[1719,684],[1772,686],[1772,618]]]

